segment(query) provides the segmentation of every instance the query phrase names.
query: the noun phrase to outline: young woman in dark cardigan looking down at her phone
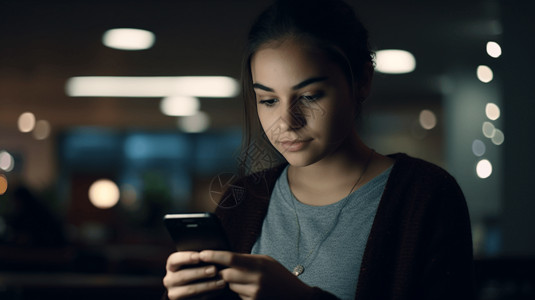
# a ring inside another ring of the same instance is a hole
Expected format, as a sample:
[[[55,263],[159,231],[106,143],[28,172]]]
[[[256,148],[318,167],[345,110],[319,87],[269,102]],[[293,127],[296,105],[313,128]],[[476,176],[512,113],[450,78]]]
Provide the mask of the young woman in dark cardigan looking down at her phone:
[[[472,298],[470,222],[455,180],[358,136],[373,64],[350,7],[276,2],[250,31],[243,74],[243,167],[256,172],[216,212],[236,252],[172,254],[169,298],[224,287],[242,299]],[[265,140],[285,163],[255,170]],[[199,262],[208,266],[181,268]]]

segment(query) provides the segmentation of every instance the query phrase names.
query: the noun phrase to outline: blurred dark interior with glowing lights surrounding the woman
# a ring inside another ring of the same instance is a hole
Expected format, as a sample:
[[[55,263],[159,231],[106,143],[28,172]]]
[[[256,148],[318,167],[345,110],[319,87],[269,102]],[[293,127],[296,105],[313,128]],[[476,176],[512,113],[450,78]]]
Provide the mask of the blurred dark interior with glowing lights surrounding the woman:
[[[478,299],[533,299],[533,1],[348,2],[378,51],[364,140],[455,176]],[[162,216],[213,210],[236,171],[269,3],[0,1],[1,299],[162,295]]]

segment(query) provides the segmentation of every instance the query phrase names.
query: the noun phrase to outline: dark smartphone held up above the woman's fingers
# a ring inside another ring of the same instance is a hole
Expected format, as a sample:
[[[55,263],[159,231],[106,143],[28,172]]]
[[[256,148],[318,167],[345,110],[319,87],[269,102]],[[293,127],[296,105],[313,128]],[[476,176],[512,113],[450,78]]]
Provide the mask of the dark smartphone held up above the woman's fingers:
[[[177,251],[231,250],[219,218],[212,213],[167,214],[164,224]]]

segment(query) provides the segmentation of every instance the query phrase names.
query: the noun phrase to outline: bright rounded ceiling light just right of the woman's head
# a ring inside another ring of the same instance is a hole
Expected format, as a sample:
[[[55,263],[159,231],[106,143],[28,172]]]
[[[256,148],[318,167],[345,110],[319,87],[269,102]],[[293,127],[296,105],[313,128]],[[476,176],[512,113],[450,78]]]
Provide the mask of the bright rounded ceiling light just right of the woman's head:
[[[414,56],[405,50],[380,50],[376,53],[375,69],[381,73],[410,73],[416,68]]]

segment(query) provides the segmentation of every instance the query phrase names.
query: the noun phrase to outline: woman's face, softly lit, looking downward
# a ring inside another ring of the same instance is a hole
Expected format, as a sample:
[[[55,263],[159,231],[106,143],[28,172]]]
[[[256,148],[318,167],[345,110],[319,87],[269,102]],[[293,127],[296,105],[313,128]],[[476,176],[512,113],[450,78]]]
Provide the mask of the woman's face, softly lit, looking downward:
[[[251,58],[258,117],[271,144],[293,166],[314,164],[354,131],[355,98],[338,65],[289,39]]]

